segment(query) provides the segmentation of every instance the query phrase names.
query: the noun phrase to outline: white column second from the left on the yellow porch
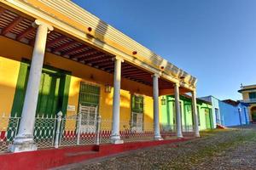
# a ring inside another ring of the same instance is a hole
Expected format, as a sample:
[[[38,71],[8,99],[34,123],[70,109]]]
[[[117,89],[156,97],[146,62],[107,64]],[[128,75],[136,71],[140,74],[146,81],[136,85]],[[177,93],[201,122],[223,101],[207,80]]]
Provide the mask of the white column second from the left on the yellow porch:
[[[124,62],[119,57],[114,58],[114,75],[113,75],[113,122],[112,134],[110,137],[112,144],[123,144],[119,134],[120,118],[120,86],[121,86],[121,64]]]

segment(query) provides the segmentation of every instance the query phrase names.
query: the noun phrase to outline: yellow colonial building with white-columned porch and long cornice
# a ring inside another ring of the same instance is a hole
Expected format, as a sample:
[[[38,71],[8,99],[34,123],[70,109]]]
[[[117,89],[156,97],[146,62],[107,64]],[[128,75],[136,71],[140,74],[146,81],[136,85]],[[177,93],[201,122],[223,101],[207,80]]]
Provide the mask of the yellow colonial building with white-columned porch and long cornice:
[[[183,138],[184,93],[199,137],[196,78],[71,1],[1,0],[0,31],[1,152],[162,140],[160,95]]]

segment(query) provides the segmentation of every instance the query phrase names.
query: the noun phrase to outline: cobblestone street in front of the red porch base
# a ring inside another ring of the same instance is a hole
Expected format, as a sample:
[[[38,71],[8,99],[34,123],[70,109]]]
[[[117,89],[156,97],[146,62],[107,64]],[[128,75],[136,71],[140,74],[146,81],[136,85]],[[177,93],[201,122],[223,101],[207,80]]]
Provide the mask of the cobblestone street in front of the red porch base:
[[[61,169],[256,169],[256,125],[212,130],[201,136]]]

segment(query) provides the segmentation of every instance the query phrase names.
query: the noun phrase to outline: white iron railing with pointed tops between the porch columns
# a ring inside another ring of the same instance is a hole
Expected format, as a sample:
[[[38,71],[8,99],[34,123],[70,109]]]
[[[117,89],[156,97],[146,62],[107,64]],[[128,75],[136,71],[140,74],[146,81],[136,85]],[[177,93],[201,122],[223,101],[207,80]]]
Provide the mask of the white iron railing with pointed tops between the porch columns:
[[[39,115],[39,114],[38,114]],[[18,133],[20,116],[0,116],[0,153],[9,151],[15,135]],[[34,141],[38,148],[58,148],[61,146],[110,143],[112,120],[97,116],[94,120],[84,120],[81,114],[62,116],[36,116]],[[183,127],[183,132],[193,132],[193,127]],[[164,139],[176,136],[176,126],[160,124],[160,133]],[[119,122],[120,138],[124,142],[154,140],[153,122]]]

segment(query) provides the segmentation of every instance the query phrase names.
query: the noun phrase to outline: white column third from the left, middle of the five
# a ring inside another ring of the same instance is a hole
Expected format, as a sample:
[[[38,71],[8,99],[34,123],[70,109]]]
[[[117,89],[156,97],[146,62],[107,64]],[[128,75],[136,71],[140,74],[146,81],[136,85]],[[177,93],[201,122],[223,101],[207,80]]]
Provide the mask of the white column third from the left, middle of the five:
[[[158,87],[158,74],[153,75],[153,99],[154,99],[154,139],[162,140],[160,135],[159,125],[159,87]]]

